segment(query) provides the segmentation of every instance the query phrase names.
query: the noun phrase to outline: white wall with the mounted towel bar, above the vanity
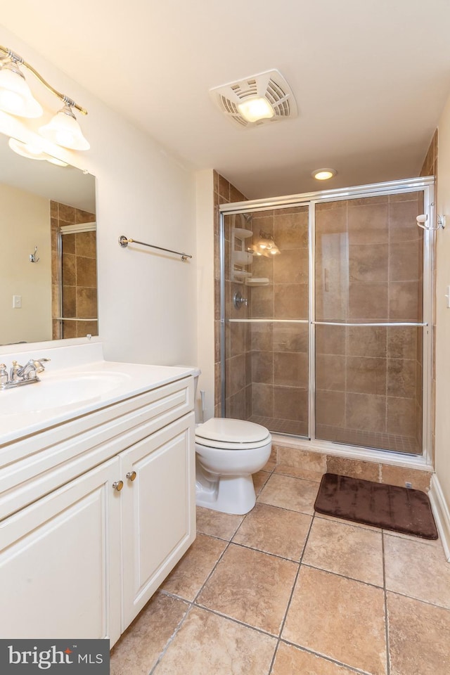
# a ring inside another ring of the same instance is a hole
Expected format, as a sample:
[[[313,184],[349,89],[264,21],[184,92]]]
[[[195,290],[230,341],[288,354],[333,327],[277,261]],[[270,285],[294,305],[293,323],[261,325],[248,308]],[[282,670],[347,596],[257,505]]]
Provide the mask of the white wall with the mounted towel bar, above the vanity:
[[[58,91],[89,111],[79,122],[91,150],[72,163],[97,178],[99,328],[107,359],[148,364],[195,364],[195,174],[153,139],[107,108],[55,65],[0,26],[0,43],[25,58]],[[34,94],[56,112],[57,99]],[[48,117],[45,121],[47,121]],[[41,124],[43,122],[40,122]],[[65,156],[67,153],[61,153]],[[193,255],[181,262],[131,245],[120,235]]]

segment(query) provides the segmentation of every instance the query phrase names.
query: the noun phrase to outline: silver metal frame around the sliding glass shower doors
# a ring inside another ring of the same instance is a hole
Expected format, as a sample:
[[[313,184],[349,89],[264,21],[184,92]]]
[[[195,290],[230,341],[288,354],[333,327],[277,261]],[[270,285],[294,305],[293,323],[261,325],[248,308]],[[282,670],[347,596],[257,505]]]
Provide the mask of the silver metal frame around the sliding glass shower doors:
[[[358,326],[410,326],[423,328],[423,354],[422,354],[422,454],[408,454],[384,449],[371,449],[363,446],[347,445],[333,441],[326,441],[316,438],[316,326],[317,325],[337,325],[347,326],[348,323],[333,321],[316,321],[315,300],[315,213],[316,204],[348,200],[352,198],[368,198],[378,195],[392,195],[399,193],[423,192],[423,212],[428,214],[428,222],[435,223],[435,204],[434,204],[435,178],[434,176],[425,176],[401,181],[390,181],[385,183],[375,183],[369,185],[354,186],[350,188],[340,188],[336,190],[324,190],[311,193],[301,193],[298,195],[288,195],[285,197],[276,197],[271,199],[248,200],[245,202],[234,202],[219,205],[220,229],[219,229],[219,259],[220,259],[220,366],[221,366],[221,416],[225,417],[225,378],[226,378],[226,321],[225,316],[225,216],[248,213],[262,212],[267,210],[278,210],[287,207],[308,206],[309,208],[309,226],[308,226],[308,250],[309,250],[309,288],[308,288],[308,319],[233,319],[231,321],[239,323],[299,323],[309,325],[309,345],[308,345],[308,367],[309,367],[309,409],[308,409],[308,437],[294,436],[290,434],[277,434],[286,438],[295,438],[302,449],[314,449],[326,451],[330,454],[352,454],[357,458],[369,459],[371,461],[385,461],[395,463],[399,458],[409,465],[432,465],[432,327],[434,326],[434,249],[435,249],[435,231],[424,229],[423,232],[423,317],[422,322],[397,321],[397,322],[376,322],[357,323]],[[353,324],[352,324],[353,325]]]

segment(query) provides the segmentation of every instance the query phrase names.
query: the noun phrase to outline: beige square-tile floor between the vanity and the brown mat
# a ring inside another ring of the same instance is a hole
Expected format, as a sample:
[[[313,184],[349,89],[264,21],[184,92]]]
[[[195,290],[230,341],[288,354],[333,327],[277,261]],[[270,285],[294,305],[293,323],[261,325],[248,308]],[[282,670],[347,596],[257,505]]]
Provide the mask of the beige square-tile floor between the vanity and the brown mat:
[[[314,515],[320,475],[265,469],[245,517],[198,508],[197,539],[111,675],[448,675],[440,541]]]

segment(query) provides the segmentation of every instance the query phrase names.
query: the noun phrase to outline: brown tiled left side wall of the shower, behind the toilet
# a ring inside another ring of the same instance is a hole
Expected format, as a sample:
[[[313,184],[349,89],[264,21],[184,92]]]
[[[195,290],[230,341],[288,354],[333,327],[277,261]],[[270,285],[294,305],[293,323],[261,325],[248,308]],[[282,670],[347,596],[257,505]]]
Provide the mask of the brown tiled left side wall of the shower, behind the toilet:
[[[221,415],[221,376],[220,376],[220,214],[219,204],[240,202],[245,200],[229,181],[214,171],[214,416]],[[236,218],[239,221],[236,221]],[[231,281],[230,251],[231,251],[231,227],[242,227],[240,217],[227,216],[225,221],[225,246],[226,246],[226,269],[225,269],[225,293],[226,293],[226,316],[235,313],[238,318],[247,314],[247,309],[242,307],[237,312],[232,305],[233,294],[240,290],[245,296],[243,285]],[[234,243],[233,243],[234,245]],[[248,329],[245,324],[233,323],[226,330],[226,416],[245,419],[251,414],[251,389],[252,380],[248,373]],[[247,376],[248,375],[248,376]]]

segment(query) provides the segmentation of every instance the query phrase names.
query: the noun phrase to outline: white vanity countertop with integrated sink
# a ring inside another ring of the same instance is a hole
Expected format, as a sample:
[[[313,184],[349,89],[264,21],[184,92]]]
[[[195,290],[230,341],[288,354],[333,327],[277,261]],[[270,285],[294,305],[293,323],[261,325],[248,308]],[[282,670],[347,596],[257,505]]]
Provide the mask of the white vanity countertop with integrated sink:
[[[39,375],[40,382],[0,391],[0,448],[193,373],[191,368],[177,366],[89,360],[92,356],[103,356],[98,345],[89,347],[96,349],[70,353],[71,364],[66,368],[60,367],[64,359],[58,359],[53,350],[47,350],[45,354],[34,350],[34,358],[49,356],[52,361]],[[18,356],[25,361],[27,354]]]

